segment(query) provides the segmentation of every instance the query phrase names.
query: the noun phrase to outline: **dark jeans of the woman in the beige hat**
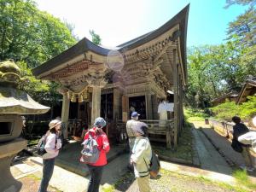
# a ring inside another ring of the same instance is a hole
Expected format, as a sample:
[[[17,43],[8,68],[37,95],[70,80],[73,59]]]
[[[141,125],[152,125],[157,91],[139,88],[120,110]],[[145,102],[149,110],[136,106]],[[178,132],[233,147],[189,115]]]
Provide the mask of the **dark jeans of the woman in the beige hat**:
[[[52,176],[55,167],[55,158],[49,160],[43,160],[43,178],[40,184],[38,192],[46,192],[49,184],[49,180]]]

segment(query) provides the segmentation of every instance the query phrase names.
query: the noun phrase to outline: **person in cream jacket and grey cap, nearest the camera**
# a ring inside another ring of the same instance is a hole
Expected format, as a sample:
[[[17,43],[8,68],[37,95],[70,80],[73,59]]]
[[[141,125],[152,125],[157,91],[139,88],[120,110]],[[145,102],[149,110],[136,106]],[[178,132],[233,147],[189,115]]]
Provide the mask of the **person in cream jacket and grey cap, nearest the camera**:
[[[134,167],[134,174],[140,192],[150,191],[149,167],[152,158],[152,149],[148,140],[148,125],[139,122],[132,127],[136,140],[132,148],[131,164]]]

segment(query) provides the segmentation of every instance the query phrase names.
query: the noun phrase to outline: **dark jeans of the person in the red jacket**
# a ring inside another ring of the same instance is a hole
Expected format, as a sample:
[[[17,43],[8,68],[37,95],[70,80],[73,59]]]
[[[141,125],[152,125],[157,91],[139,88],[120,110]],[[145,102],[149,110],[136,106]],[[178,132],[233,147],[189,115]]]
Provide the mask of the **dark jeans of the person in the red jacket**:
[[[90,172],[90,181],[87,192],[99,192],[104,166],[90,166],[87,164],[87,167]]]

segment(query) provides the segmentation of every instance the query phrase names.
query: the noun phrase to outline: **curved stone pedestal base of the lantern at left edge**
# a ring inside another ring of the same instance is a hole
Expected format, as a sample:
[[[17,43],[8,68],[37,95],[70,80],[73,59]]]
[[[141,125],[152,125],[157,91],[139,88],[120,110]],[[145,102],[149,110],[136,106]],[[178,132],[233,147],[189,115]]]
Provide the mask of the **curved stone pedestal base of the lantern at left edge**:
[[[15,154],[26,148],[26,140],[16,138],[10,142],[0,143],[0,191],[16,192],[20,191],[22,183],[16,181],[10,172],[11,160]]]

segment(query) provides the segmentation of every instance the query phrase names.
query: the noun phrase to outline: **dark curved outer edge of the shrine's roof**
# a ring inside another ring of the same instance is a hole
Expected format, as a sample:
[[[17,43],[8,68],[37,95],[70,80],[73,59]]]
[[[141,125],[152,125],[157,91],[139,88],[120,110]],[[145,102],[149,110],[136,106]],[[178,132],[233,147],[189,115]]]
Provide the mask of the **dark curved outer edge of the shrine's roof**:
[[[183,57],[182,58],[183,65],[184,65],[184,68],[186,69],[186,66],[187,66],[186,41],[187,41],[188,16],[189,16],[189,4],[185,8],[183,8],[177,15],[175,15],[171,20],[167,21],[166,24],[164,24],[163,26],[160,26],[160,28],[152,32],[148,32],[138,38],[132,39],[131,41],[126,42],[125,44],[120,44],[117,47],[117,49],[119,49],[119,51],[134,49],[142,44],[148,43],[149,41],[163,34],[164,32],[167,32],[168,30],[172,29],[173,26],[176,26],[177,24],[179,24],[180,31],[181,31],[180,49]],[[47,72],[55,67],[58,67],[59,65],[61,65],[61,63],[70,61],[74,57],[84,54],[88,50],[99,55],[107,56],[108,52],[111,49],[103,48],[101,46],[93,44],[89,39],[83,38],[77,44],[74,44],[71,48],[63,51],[60,55],[56,55],[54,58],[50,59],[49,61],[46,61],[42,65],[34,68],[32,70],[32,73],[35,76],[38,76],[41,73]]]

